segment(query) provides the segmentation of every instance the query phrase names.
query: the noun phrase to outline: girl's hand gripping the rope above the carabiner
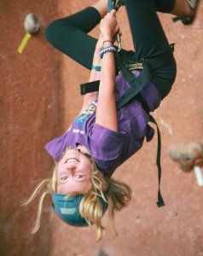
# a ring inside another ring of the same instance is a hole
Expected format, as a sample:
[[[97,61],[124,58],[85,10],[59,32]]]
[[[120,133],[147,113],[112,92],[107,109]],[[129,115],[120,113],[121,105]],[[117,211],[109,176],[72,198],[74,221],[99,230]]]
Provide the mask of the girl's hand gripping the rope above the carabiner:
[[[115,35],[120,34],[115,9],[113,9],[109,14],[104,16],[104,18],[101,20],[100,31],[102,41],[111,40],[114,43]]]

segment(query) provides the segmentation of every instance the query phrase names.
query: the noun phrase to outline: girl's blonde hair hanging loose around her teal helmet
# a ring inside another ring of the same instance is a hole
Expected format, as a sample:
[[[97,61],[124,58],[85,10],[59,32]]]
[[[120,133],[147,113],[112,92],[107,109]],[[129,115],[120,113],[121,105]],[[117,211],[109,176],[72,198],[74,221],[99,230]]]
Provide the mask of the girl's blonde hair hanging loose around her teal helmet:
[[[113,177],[108,177],[102,171],[96,168],[94,161],[94,171],[90,177],[91,188],[84,194],[83,200],[80,202],[79,212],[83,218],[90,224],[96,224],[96,241],[101,241],[104,236],[104,226],[102,225],[102,217],[104,215],[99,196],[102,197],[108,205],[109,224],[113,233],[118,236],[114,223],[114,211],[120,211],[127,206],[131,201],[131,188],[122,182],[119,182]],[[38,213],[35,220],[32,234],[36,233],[40,226],[40,218],[43,210],[44,197],[48,194],[57,193],[57,166],[55,166],[52,178],[44,179],[38,184],[37,188],[33,191],[29,200],[24,205],[29,204],[35,199],[38,193],[41,193],[45,187],[38,203]],[[81,194],[81,192],[73,192],[67,195],[68,197]]]

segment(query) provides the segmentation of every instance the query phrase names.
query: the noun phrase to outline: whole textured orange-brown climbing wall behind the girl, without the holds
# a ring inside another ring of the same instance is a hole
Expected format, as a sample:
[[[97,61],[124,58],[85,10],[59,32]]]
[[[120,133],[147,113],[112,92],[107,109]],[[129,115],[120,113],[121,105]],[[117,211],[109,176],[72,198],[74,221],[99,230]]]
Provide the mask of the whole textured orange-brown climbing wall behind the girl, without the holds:
[[[96,242],[96,230],[63,224],[44,203],[39,232],[30,231],[38,200],[20,207],[38,181],[50,176],[53,162],[44,144],[67,130],[80,109],[78,84],[88,71],[53,49],[44,38],[50,20],[73,14],[93,1],[0,1],[1,179],[0,255],[200,256],[203,255],[203,188],[194,172],[183,173],[169,157],[171,148],[194,141],[203,143],[203,5],[193,26],[173,24],[171,15],[159,15],[171,43],[176,43],[177,80],[154,113],[162,135],[161,191],[165,207],[157,208],[156,137],[120,166],[114,177],[128,183],[133,196],[129,207],[116,214],[119,237],[107,226]],[[23,22],[34,13],[41,32],[17,48],[25,34]],[[125,8],[119,10],[124,48],[132,47]],[[92,32],[98,35],[98,27]]]

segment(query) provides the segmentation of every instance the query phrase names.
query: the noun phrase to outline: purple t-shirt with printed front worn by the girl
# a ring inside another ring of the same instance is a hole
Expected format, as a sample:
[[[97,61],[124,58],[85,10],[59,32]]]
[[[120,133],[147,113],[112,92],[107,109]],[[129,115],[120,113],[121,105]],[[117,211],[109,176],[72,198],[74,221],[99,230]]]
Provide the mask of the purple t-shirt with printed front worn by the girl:
[[[136,72],[137,74],[139,73]],[[116,77],[116,100],[119,100],[129,87],[120,73]],[[150,81],[141,94],[151,111],[159,107],[159,91]],[[118,132],[96,124],[96,105],[97,102],[92,102],[89,108],[74,120],[70,131],[47,143],[45,148],[54,160],[58,161],[68,147],[77,148],[78,144],[82,144],[88,148],[102,172],[111,176],[118,166],[142,148],[145,137],[147,141],[154,137],[154,129],[148,125],[148,113],[137,100],[128,102],[118,110]]]

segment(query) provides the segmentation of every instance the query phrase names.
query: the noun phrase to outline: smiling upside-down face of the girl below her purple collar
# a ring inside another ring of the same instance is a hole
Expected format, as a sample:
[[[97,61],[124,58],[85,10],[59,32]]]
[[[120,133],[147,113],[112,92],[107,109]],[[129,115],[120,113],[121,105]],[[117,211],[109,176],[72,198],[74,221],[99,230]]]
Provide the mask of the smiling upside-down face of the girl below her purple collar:
[[[57,192],[87,192],[91,186],[92,168],[90,159],[82,152],[68,149],[57,166]]]

